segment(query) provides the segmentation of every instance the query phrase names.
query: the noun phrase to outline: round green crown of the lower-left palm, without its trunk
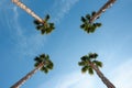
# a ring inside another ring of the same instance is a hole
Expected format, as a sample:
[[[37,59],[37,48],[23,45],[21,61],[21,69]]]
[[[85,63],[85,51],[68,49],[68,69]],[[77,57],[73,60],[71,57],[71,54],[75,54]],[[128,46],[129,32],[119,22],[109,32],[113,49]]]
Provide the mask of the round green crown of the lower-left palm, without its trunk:
[[[34,64],[35,67],[43,65],[41,67],[41,70],[44,72],[45,74],[47,74],[48,70],[53,69],[54,64],[50,59],[48,55],[42,54],[38,57],[36,56],[34,61],[35,61],[35,64]]]

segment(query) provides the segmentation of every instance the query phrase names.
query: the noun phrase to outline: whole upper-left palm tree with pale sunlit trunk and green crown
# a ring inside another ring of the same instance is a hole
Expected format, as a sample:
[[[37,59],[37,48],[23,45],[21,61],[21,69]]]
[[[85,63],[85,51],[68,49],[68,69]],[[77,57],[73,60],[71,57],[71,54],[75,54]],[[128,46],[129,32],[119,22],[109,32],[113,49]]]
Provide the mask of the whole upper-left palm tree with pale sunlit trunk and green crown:
[[[20,0],[12,0],[12,2],[35,19],[34,23],[37,24],[36,29],[41,30],[42,34],[45,33],[48,34],[55,29],[54,23],[47,23],[47,21],[50,20],[50,15],[46,15],[45,19],[43,20],[38,15],[36,15],[30,8],[28,8],[24,3],[22,3]]]

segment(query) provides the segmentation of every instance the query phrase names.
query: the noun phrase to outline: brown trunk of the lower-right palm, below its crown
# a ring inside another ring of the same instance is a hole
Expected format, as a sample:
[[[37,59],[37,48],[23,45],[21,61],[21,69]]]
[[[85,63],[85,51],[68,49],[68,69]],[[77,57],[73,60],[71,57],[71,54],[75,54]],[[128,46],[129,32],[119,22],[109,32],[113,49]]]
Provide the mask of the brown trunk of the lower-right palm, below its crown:
[[[99,70],[99,68],[96,65],[91,65],[92,68],[96,70],[97,75],[101,78],[101,80],[103,81],[103,84],[106,84],[106,86],[108,88],[116,88],[114,85],[105,77],[105,75]]]

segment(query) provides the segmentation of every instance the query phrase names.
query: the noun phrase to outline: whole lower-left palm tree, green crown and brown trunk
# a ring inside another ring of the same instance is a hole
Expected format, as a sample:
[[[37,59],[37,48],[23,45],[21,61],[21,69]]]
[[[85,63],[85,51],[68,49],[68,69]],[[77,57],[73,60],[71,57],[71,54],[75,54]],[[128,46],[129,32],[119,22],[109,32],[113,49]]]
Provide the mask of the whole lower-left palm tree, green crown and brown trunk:
[[[34,58],[35,61],[35,68],[25,75],[22,79],[15,82],[11,88],[20,88],[29,78],[31,78],[37,70],[42,70],[43,73],[47,74],[48,70],[53,69],[54,64],[50,59],[48,55],[42,54],[38,57]]]

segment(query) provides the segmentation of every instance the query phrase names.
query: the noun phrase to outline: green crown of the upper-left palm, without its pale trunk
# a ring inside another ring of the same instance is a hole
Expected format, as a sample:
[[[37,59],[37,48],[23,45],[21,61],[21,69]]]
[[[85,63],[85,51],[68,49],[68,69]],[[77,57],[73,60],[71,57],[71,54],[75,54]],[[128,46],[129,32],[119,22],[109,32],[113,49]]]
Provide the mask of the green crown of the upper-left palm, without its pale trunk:
[[[48,34],[55,29],[54,23],[48,22],[48,20],[50,20],[48,14],[45,16],[43,22],[40,22],[38,20],[34,20],[34,24],[36,25],[36,30],[41,31],[42,34]]]

